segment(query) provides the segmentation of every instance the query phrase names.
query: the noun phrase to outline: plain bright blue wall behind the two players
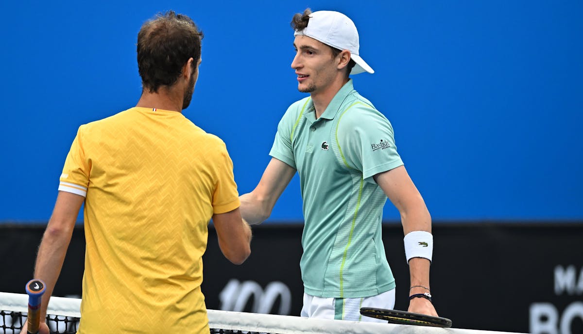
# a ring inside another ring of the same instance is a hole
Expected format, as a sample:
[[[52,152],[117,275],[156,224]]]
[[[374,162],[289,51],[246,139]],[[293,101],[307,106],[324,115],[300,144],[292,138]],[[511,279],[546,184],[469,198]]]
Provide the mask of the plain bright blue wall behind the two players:
[[[77,127],[138,101],[141,24],[174,9],[205,33],[184,114],[222,137],[240,193],[303,98],[289,22],[346,13],[383,112],[434,221],[583,219],[581,1],[3,2],[0,221],[47,221]],[[385,219],[398,212],[388,204]],[[297,177],[272,221],[301,221]]]

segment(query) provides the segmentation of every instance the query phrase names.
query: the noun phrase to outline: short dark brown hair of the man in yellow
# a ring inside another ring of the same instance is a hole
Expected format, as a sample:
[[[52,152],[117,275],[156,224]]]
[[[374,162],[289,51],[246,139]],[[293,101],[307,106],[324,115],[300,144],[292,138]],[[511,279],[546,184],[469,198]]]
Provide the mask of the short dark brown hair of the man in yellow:
[[[138,33],[138,70],[143,89],[156,93],[160,86],[172,86],[191,57],[192,70],[196,69],[202,38],[202,31],[190,17],[173,10],[144,23]]]

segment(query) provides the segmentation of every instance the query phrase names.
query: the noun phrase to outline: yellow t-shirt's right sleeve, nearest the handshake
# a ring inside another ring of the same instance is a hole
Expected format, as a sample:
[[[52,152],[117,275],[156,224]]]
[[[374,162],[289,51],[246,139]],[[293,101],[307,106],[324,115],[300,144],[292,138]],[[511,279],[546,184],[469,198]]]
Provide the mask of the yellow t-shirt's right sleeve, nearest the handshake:
[[[217,182],[213,193],[213,213],[224,214],[241,205],[233,175],[233,161],[231,161],[224,143],[222,143],[215,163],[217,166]]]

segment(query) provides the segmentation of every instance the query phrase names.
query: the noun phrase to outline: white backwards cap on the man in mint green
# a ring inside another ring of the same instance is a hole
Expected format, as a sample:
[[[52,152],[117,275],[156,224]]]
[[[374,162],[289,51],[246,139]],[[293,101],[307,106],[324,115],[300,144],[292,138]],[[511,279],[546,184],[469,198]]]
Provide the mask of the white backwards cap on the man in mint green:
[[[330,10],[311,13],[308,26],[303,30],[296,30],[294,36],[296,35],[305,35],[333,48],[350,51],[350,58],[356,63],[350,74],[374,73],[364,59],[360,58],[359,32],[354,22],[342,13]]]

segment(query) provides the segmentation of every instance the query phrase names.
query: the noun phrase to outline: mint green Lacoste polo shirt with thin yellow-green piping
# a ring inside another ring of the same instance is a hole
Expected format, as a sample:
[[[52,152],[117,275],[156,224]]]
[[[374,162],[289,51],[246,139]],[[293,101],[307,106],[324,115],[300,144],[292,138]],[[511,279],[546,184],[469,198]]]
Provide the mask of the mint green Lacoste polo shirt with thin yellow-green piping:
[[[305,293],[357,298],[394,289],[381,240],[387,196],[373,176],[403,162],[391,123],[354,90],[352,79],[319,119],[310,97],[292,104],[269,155],[300,175]]]

